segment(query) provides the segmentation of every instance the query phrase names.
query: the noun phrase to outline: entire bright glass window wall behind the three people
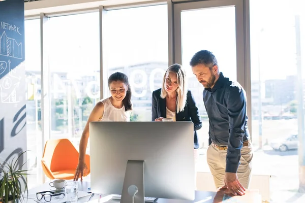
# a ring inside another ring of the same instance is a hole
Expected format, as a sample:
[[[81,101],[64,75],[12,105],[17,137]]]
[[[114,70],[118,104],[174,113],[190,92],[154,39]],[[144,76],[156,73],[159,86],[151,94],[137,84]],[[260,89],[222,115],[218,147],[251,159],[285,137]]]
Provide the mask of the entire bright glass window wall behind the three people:
[[[284,199],[297,202],[297,196],[301,196],[297,193],[305,192],[302,189],[305,188],[302,177],[305,174],[305,16],[301,11],[304,6],[300,0],[250,1],[252,115],[249,122],[255,150],[253,174],[272,176],[269,188],[275,202]],[[236,79],[234,12],[234,7],[221,7],[181,13],[184,66],[188,67],[196,51],[208,49],[217,56],[224,75]],[[78,149],[88,115],[100,99],[100,84],[103,82],[104,98],[110,96],[107,78],[116,71],[126,73],[130,79],[134,105],[131,121],[150,121],[151,92],[161,88],[168,67],[167,18],[167,5],[107,11],[103,22],[102,81],[99,13],[49,18],[50,139],[69,138]],[[198,24],[198,19],[202,23]],[[25,43],[28,167],[35,174],[36,164],[40,164],[36,147],[43,145],[39,143],[41,139],[36,139],[41,136],[39,20],[25,21]],[[188,73],[189,88],[203,119],[199,136],[205,148],[208,122],[202,87]],[[204,149],[201,153],[200,169],[208,171]],[[36,184],[36,179],[31,177],[29,184]]]

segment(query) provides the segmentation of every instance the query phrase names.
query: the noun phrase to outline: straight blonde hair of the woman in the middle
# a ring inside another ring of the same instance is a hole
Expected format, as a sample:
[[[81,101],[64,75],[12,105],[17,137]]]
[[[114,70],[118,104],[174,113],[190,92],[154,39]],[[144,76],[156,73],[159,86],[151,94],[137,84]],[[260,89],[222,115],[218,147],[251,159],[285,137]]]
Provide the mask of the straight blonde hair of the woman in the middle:
[[[175,63],[168,67],[168,69],[165,72],[164,77],[163,77],[161,95],[160,95],[161,98],[166,98],[167,92],[165,91],[164,83],[165,83],[166,75],[169,72],[177,74],[178,87],[176,89],[176,92],[177,92],[177,101],[176,101],[177,110],[176,111],[177,111],[177,113],[179,113],[184,110],[186,103],[187,103],[186,72],[184,69],[182,69],[182,66],[178,63]]]

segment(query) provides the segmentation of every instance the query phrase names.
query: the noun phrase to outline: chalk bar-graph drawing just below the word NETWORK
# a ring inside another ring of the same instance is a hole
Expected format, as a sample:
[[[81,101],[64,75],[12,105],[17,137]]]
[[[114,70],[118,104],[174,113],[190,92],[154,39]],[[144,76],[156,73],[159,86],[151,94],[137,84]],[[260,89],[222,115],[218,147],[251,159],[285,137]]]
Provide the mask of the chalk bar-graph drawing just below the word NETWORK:
[[[0,55],[22,59],[22,43],[9,38],[5,31],[0,36]]]

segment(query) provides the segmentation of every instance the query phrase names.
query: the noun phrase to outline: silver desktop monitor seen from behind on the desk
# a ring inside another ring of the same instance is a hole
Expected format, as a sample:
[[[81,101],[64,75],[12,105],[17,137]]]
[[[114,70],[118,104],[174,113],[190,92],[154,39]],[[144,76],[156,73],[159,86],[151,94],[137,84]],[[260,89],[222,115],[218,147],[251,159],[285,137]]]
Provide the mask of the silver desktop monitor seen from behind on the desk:
[[[193,122],[90,122],[89,133],[93,193],[194,200]]]

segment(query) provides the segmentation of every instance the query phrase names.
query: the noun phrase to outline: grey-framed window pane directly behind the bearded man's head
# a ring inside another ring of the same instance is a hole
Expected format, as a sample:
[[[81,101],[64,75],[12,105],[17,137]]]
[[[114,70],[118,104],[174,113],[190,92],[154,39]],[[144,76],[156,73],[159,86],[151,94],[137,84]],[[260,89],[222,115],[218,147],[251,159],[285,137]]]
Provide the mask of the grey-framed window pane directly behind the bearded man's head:
[[[178,9],[177,9],[178,10]],[[202,128],[197,132],[200,144],[200,156],[198,171],[209,172],[205,161],[206,149],[208,147],[208,118],[204,107],[202,92],[203,86],[197,81],[190,67],[192,56],[200,50],[213,52],[219,62],[220,71],[231,80],[236,80],[236,35],[235,35],[235,8],[212,7],[204,9],[189,9],[178,13],[181,21],[181,31],[175,24],[175,35],[181,32],[181,61],[186,67],[188,74],[188,87],[196,100],[196,106],[202,120]],[[176,12],[176,11],[175,11]],[[175,13],[176,14],[176,13]],[[177,20],[177,16],[175,15]],[[204,26],[197,26],[202,22]],[[213,31],[206,31],[208,27],[213,27]],[[196,31],[194,29],[196,28]],[[175,50],[177,50],[178,39],[175,39]],[[176,51],[178,52],[178,50]],[[176,54],[175,52],[175,54]],[[175,59],[177,57],[175,56]]]

